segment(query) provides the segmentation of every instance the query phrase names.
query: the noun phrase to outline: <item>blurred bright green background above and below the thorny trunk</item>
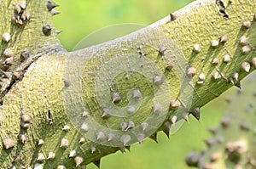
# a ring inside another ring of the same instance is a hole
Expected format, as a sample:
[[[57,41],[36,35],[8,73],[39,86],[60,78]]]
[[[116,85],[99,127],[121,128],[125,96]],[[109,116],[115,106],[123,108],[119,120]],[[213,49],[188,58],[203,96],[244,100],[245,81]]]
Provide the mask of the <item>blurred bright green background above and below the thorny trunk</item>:
[[[182,8],[192,0],[55,0],[60,15],[54,17],[55,26],[63,31],[59,38],[68,51],[84,37],[105,26],[136,23],[149,25]],[[230,92],[230,91],[229,91]],[[184,157],[192,150],[206,146],[203,139],[211,135],[208,127],[216,127],[225,109],[224,97],[213,100],[201,109],[201,121],[191,117],[189,123],[170,139],[159,133],[159,143],[151,139],[131,146],[131,152],[117,152],[102,158],[102,169],[187,169]],[[88,169],[96,169],[90,164]]]

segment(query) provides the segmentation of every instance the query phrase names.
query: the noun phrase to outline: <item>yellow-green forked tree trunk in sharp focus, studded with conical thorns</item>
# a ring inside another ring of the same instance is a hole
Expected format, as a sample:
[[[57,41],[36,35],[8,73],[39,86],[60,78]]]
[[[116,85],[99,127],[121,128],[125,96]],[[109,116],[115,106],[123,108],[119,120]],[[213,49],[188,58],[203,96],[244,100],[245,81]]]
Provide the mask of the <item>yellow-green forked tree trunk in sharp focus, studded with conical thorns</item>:
[[[256,1],[201,0],[68,53],[51,1],[0,1],[2,168],[85,168],[175,123],[253,71]]]

